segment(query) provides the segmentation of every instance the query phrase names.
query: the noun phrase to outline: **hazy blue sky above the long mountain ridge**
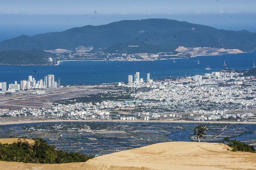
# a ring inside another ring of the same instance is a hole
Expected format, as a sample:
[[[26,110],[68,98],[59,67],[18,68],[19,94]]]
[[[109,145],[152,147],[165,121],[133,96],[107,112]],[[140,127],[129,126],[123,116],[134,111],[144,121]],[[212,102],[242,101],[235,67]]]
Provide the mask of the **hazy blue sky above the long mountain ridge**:
[[[148,18],[256,33],[256,0],[1,0],[0,42],[20,35]]]

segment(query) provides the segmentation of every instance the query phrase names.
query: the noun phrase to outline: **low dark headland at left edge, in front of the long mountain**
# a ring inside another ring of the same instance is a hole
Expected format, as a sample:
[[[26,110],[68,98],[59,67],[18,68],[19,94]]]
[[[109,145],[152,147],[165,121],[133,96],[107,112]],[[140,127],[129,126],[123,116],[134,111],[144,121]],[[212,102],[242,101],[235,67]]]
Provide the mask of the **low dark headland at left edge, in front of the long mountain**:
[[[28,51],[22,51],[22,50],[0,51],[0,64],[44,65],[48,63],[47,56],[49,55],[51,54],[38,49],[31,49]]]

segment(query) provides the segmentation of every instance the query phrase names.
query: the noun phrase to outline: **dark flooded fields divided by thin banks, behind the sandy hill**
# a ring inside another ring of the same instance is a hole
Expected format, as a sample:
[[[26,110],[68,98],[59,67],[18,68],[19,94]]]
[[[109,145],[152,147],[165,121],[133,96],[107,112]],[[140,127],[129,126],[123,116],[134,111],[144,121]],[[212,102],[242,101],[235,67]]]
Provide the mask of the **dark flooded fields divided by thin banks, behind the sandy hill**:
[[[58,150],[101,156],[150,144],[197,141],[192,129],[198,123],[157,122],[52,122],[0,125],[0,138],[43,138]],[[256,147],[256,125],[207,124],[204,142],[221,142],[230,136]]]

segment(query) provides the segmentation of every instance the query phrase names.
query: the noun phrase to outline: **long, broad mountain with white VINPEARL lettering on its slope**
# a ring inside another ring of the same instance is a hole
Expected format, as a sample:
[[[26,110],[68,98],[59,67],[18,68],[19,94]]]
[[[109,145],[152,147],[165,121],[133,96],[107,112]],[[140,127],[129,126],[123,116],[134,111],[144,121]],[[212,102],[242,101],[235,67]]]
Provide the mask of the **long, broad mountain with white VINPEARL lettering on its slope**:
[[[137,52],[151,48],[150,45],[154,45],[152,48],[155,49],[154,52],[173,51],[178,46],[237,48],[241,51],[251,51],[256,47],[256,33],[245,30],[219,30],[167,19],[123,20],[102,26],[71,28],[62,32],[22,35],[0,42],[0,51],[32,48],[74,50],[79,45],[83,45],[93,46],[94,49],[108,48],[108,52],[114,52],[119,50],[117,47],[124,48],[128,42],[147,46]]]

